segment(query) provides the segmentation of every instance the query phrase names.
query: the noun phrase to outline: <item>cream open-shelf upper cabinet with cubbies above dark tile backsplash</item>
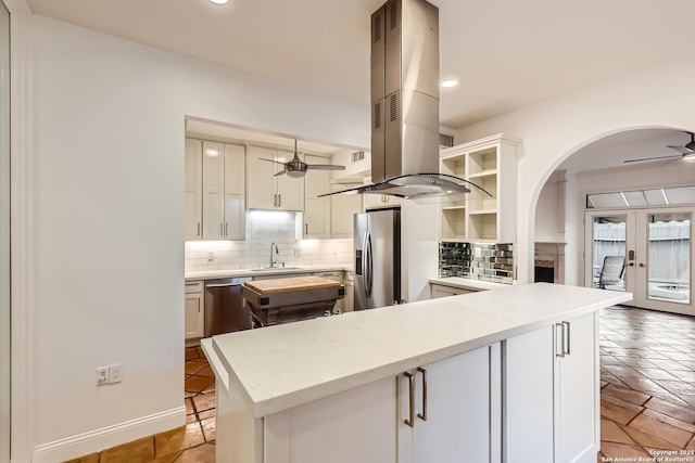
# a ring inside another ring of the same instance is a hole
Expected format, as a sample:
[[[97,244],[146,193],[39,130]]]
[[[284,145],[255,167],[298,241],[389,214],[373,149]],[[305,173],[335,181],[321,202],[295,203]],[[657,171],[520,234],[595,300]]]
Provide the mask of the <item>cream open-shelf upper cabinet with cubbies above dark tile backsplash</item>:
[[[465,201],[442,205],[443,240],[516,242],[517,146],[520,140],[496,134],[440,153],[442,173],[462,177],[492,198],[469,193]]]

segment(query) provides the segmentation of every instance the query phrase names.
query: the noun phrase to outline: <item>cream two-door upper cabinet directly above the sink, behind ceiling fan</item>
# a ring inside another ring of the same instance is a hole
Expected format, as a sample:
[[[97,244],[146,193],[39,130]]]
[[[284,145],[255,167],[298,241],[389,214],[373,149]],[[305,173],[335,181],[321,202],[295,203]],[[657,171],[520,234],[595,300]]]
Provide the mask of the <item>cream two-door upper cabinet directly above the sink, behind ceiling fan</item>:
[[[248,206],[249,209],[302,210],[304,204],[304,179],[287,175],[275,176],[283,169],[292,153],[267,147],[249,146],[248,155]]]

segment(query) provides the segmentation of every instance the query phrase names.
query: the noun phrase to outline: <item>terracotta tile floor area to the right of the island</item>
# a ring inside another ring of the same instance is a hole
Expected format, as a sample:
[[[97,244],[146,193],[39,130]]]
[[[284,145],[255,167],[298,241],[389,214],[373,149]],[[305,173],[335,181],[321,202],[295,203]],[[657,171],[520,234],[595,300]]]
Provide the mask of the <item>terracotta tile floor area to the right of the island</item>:
[[[674,450],[695,463],[695,318],[602,310],[601,378],[598,462]]]

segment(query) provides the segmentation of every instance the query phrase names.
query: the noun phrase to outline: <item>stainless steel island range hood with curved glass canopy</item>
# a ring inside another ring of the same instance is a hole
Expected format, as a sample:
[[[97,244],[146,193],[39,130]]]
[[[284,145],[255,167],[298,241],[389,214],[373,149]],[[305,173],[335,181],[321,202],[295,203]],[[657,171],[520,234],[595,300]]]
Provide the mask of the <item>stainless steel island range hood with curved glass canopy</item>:
[[[419,203],[492,197],[439,173],[439,9],[390,0],[371,15],[371,184],[340,193]]]

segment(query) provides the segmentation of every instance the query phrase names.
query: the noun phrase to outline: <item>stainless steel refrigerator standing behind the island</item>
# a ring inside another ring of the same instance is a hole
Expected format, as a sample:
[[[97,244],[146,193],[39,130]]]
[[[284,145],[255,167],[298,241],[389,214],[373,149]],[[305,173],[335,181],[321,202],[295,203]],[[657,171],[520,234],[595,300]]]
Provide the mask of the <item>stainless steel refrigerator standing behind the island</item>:
[[[355,214],[355,310],[401,300],[401,210]]]

